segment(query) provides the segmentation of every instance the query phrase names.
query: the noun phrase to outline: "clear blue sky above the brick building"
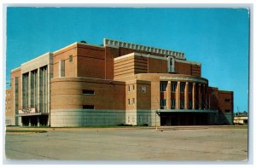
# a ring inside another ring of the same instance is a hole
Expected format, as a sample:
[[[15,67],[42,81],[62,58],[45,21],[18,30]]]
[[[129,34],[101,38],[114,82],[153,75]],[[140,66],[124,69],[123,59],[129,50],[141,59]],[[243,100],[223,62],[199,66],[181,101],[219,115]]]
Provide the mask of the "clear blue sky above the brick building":
[[[8,8],[6,70],[38,55],[103,38],[183,51],[202,77],[234,91],[234,111],[247,111],[247,9]]]

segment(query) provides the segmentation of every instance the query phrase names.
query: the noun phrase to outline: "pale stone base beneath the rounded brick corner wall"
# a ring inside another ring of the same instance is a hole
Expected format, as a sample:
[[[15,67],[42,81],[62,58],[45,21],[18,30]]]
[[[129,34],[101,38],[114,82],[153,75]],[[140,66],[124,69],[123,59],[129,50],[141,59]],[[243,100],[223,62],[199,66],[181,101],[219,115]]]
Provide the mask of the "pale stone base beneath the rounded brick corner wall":
[[[125,124],[124,110],[58,109],[51,110],[50,117],[52,127]]]

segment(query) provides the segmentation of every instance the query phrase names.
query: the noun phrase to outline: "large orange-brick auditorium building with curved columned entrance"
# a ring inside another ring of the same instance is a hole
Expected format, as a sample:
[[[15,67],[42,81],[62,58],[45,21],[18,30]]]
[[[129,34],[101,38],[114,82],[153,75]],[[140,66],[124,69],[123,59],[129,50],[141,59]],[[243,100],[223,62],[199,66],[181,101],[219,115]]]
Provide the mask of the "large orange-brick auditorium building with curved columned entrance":
[[[232,125],[233,92],[210,87],[182,52],[104,39],[11,71],[6,125]]]

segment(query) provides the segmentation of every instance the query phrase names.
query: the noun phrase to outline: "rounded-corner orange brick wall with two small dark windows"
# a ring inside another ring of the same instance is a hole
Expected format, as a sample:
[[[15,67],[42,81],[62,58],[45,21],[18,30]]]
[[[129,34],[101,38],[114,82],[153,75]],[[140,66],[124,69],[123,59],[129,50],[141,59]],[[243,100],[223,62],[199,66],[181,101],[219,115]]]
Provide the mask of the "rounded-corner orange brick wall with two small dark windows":
[[[94,90],[94,95],[83,95]],[[91,78],[54,78],[51,84],[51,109],[125,109],[125,83]]]

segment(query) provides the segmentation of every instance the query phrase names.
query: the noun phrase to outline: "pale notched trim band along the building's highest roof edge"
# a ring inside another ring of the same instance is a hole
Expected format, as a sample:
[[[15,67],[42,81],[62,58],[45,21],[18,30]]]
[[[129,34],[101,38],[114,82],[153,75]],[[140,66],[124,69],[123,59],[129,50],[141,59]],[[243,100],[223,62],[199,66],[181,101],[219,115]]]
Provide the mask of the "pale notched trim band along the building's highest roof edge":
[[[144,51],[154,52],[154,53],[163,54],[163,55],[172,55],[178,59],[185,59],[185,54],[183,52],[177,52],[177,51],[168,50],[168,49],[154,48],[154,47],[149,47],[149,46],[145,46],[137,43],[126,43],[126,42],[117,41],[109,38],[104,38],[103,43],[105,47],[108,46],[108,47],[114,47],[114,48],[124,47],[127,49],[138,49],[138,50],[144,50]]]

